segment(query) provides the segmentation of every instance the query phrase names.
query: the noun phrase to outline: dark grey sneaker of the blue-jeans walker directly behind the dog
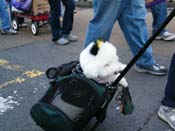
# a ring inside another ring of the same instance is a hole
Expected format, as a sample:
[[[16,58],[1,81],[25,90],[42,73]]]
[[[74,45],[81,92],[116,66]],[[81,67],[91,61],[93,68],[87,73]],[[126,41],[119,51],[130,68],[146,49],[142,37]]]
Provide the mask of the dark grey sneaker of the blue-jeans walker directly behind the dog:
[[[140,67],[138,65],[134,66],[135,70],[140,73],[150,73],[157,76],[166,75],[167,69],[159,64],[154,64],[151,67]]]

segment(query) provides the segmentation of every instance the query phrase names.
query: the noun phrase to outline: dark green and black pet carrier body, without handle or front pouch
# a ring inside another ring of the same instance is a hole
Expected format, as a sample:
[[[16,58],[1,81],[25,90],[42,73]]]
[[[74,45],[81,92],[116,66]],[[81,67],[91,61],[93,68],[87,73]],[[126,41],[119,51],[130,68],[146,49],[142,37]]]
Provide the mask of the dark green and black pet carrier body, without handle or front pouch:
[[[45,131],[81,131],[94,115],[99,115],[107,94],[105,84],[73,73],[52,81],[30,113]]]

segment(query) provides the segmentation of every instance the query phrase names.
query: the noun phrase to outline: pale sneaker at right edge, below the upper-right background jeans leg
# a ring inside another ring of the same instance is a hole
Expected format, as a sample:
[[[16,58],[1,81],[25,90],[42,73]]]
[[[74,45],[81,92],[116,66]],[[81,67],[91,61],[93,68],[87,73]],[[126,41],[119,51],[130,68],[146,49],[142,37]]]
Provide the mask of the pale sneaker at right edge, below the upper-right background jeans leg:
[[[172,41],[175,40],[175,35],[166,31],[162,35],[157,36],[156,40]]]

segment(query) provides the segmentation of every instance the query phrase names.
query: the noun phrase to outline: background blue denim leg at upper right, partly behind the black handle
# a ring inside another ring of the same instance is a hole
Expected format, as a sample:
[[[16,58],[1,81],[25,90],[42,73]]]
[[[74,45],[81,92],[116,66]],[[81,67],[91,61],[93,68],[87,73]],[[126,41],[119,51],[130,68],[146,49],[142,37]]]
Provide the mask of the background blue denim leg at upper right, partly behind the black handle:
[[[162,25],[164,20],[167,18],[167,3],[166,3],[166,1],[163,1],[157,5],[152,6],[151,12],[152,12],[152,16],[153,16],[152,28],[153,28],[153,33],[155,33],[160,28],[160,26]],[[165,31],[166,30],[164,29],[160,33],[160,35],[162,35]]]

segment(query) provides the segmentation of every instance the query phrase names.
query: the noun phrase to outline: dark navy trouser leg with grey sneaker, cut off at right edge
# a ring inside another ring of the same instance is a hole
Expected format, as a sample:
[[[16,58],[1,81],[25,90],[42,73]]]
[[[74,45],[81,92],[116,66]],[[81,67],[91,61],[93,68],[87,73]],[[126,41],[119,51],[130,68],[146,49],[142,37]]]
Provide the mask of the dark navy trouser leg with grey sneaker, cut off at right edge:
[[[157,115],[175,130],[175,54],[172,57],[165,95]]]

